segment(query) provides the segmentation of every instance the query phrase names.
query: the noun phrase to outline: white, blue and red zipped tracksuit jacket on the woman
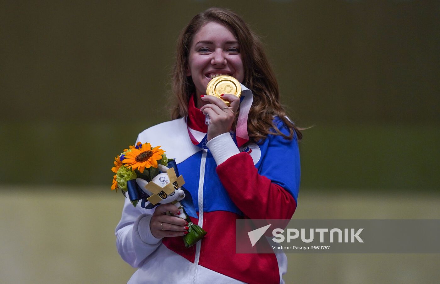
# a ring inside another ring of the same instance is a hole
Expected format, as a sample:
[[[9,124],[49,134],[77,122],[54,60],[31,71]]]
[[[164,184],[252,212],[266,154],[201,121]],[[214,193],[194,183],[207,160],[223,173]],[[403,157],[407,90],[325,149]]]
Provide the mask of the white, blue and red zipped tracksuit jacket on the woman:
[[[274,122],[289,135],[279,118]],[[232,132],[199,143],[205,132],[205,116],[190,99],[188,117],[139,134],[137,141],[161,146],[175,158],[198,214],[191,220],[207,234],[191,248],[185,248],[182,237],[157,239],[150,231],[154,208],[134,208],[125,198],[115,230],[117,250],[139,268],[128,283],[284,283],[285,254],[235,253],[235,220],[292,217],[300,185],[296,136],[268,135],[238,149]]]

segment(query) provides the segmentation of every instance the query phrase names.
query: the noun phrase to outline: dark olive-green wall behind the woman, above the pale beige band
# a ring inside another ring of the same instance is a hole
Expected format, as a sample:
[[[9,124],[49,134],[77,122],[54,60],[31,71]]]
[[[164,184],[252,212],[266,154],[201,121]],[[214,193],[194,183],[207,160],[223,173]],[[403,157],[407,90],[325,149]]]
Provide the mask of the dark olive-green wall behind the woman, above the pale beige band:
[[[180,29],[219,4],[262,36],[290,117],[314,126],[303,187],[438,188],[440,4],[403,0],[2,1],[0,183],[110,187],[113,157],[168,120]]]

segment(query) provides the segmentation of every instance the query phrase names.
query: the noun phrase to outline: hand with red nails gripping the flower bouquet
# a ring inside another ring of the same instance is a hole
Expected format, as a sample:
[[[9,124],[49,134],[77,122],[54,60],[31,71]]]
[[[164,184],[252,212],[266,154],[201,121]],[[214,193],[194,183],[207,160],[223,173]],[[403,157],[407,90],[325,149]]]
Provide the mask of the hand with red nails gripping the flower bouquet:
[[[150,230],[155,238],[179,237],[188,233],[188,222],[182,218],[166,215],[170,211],[173,214],[180,215],[179,209],[171,204],[161,204],[156,207],[153,217],[150,220]],[[162,225],[162,226],[161,226]]]

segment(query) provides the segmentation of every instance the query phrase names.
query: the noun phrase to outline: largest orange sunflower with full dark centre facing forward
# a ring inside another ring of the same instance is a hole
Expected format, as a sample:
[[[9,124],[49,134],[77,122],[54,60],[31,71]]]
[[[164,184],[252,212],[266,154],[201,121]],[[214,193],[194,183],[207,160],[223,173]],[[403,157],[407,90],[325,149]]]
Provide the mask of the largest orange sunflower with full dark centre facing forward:
[[[138,170],[143,173],[145,168],[158,167],[158,160],[162,159],[164,150],[159,149],[161,146],[152,148],[150,143],[144,143],[139,149],[132,148],[130,152],[125,153],[125,159],[122,164]]]

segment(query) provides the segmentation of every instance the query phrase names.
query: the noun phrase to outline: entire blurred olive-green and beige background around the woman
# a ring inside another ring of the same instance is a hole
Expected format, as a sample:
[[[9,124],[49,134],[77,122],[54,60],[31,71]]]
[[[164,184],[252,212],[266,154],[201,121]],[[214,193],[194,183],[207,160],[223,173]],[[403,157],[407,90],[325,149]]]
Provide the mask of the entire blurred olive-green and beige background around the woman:
[[[113,158],[169,120],[177,35],[213,6],[262,37],[313,126],[294,218],[439,218],[438,1],[0,1],[0,283],[128,280]],[[440,279],[439,255],[289,258],[286,283]]]

